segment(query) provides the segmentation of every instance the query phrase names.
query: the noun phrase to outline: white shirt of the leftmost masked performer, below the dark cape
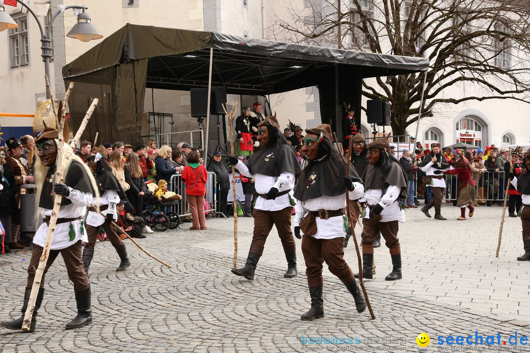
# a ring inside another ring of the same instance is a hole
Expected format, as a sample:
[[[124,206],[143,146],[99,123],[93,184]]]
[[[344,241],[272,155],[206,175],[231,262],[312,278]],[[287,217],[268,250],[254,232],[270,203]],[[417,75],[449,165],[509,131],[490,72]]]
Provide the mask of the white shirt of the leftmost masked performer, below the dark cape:
[[[92,194],[91,193],[84,193],[82,191],[73,189],[70,190],[70,194],[68,196],[63,196],[68,198],[68,200],[72,201],[71,204],[61,206],[59,209],[59,213],[57,214],[57,218],[78,218],[83,217],[86,212],[86,206],[90,205],[90,202],[92,201]],[[40,214],[42,218],[45,218],[46,216],[51,216],[51,211],[49,209],[42,209]],[[70,241],[69,231],[70,231],[70,223],[72,224],[72,227],[74,228],[75,237],[73,240]],[[44,244],[46,242],[46,234],[48,234],[48,224],[42,223],[35,233],[35,236],[33,237],[33,243],[37,244],[38,246],[44,247]],[[81,231],[81,221],[73,221],[73,222],[67,222],[67,223],[59,223],[55,226],[55,232],[54,236],[51,239],[51,250],[60,250],[68,248],[69,246],[74,245],[77,241],[82,240],[84,242],[88,242],[89,239],[86,236],[86,231]]]

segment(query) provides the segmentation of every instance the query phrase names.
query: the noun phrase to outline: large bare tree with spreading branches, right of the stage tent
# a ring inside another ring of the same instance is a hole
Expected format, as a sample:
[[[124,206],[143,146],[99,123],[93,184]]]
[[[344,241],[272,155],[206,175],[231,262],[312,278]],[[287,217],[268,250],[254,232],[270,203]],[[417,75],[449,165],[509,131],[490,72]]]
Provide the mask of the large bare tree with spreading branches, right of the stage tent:
[[[281,18],[277,16],[271,26],[277,40],[429,58],[426,73],[378,77],[363,84],[368,99],[392,104],[396,135],[404,134],[418,119],[425,75],[422,117],[433,116],[441,104],[486,99],[530,103],[527,1],[342,0],[340,6],[337,0],[290,0],[285,4]]]

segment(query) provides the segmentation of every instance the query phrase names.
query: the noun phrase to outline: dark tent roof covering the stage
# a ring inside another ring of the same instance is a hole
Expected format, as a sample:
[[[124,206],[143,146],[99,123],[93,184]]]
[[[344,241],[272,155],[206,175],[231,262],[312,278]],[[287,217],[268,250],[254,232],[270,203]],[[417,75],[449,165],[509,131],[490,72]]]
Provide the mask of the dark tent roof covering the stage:
[[[427,58],[380,55],[233,35],[127,24],[63,67],[65,80],[148,59],[147,88],[189,90],[208,85],[228,93],[266,95],[315,86],[329,66],[356,78],[410,74],[425,70]],[[75,79],[77,77],[77,79]]]

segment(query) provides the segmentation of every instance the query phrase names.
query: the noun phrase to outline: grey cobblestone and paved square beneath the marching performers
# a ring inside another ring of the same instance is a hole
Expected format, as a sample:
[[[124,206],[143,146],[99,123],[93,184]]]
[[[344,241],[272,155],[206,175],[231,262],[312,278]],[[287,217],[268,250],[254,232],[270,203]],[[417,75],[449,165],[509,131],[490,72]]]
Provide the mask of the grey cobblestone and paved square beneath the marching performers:
[[[46,278],[37,330],[0,328],[1,352],[417,352],[416,336],[426,332],[429,351],[474,351],[485,346],[439,346],[437,337],[495,336],[491,350],[523,351],[509,345],[517,331],[529,336],[530,262],[523,253],[520,220],[506,218],[499,258],[495,257],[502,208],[479,207],[472,219],[457,221],[457,207],[444,207],[447,221],[406,211],[400,224],[403,279],[387,282],[391,261],[376,249],[375,280],[366,282],[376,319],[357,313],[351,295],[327,269],[325,317],[299,317],[310,307],[299,250],[295,278],[283,278],[286,260],[271,233],[253,281],[230,273],[232,219],[208,219],[207,231],[183,229],[151,234],[139,243],[169,263],[166,268],[127,243],[131,267],[122,273],[109,242],[96,245],[91,266],[94,322],[64,330],[75,316],[73,287],[58,258]],[[244,264],[253,222],[238,219],[238,267]],[[360,228],[356,229],[360,234]],[[274,231],[273,231],[274,232]],[[357,271],[353,241],[346,259]],[[30,251],[0,256],[0,320],[20,313]],[[347,343],[337,341],[346,338]],[[359,338],[360,343],[353,343]],[[311,343],[322,339],[322,343]],[[325,343],[326,339],[334,343]],[[350,339],[351,341],[348,341]],[[503,345],[507,342],[507,345]],[[518,349],[518,350],[517,350]],[[529,349],[530,350],[530,349]]]

